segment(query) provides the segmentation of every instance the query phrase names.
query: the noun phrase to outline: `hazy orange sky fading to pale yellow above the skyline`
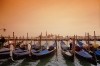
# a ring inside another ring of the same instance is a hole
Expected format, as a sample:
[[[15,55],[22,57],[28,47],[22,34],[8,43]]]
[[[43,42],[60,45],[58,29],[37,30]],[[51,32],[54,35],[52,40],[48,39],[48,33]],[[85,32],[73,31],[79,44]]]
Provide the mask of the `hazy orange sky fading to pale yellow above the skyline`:
[[[2,35],[100,35],[100,0],[0,0]]]

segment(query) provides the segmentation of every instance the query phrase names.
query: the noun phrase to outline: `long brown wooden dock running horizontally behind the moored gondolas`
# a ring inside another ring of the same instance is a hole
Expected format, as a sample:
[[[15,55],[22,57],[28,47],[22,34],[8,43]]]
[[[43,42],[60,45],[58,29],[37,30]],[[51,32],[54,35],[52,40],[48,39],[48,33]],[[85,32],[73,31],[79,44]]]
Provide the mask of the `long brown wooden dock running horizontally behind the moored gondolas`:
[[[67,40],[69,40],[70,38],[73,38],[73,36],[69,36],[69,37],[61,37],[61,38],[59,38],[59,37],[57,37],[56,39],[55,38],[41,38],[41,40],[42,41],[54,41],[54,40],[57,40],[57,41],[61,41],[61,40],[64,40],[64,41],[67,41]],[[40,38],[39,37],[35,37],[35,38],[32,38],[32,37],[26,37],[26,38],[20,38],[20,37],[15,37],[15,38],[13,38],[13,37],[5,37],[5,39],[6,40],[28,40],[28,41],[39,41],[40,40]],[[78,40],[88,40],[88,39],[86,39],[86,38],[84,38],[84,36],[77,36],[77,39]],[[90,39],[89,39],[90,41],[93,41],[94,40],[94,37],[93,36],[91,36],[90,37]],[[100,36],[96,36],[96,40],[97,41],[100,41]]]

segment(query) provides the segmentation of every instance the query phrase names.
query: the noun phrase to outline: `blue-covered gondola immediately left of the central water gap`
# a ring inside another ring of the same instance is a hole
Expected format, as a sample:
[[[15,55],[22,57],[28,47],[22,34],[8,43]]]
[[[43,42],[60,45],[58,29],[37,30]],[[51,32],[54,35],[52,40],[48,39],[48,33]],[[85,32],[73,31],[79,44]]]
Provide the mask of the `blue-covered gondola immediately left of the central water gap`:
[[[41,59],[55,54],[56,51],[56,44],[54,42],[53,45],[49,46],[49,48],[44,48],[36,50],[35,48],[32,49],[32,59]]]

